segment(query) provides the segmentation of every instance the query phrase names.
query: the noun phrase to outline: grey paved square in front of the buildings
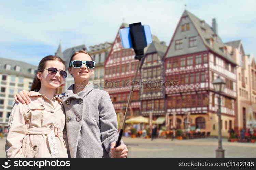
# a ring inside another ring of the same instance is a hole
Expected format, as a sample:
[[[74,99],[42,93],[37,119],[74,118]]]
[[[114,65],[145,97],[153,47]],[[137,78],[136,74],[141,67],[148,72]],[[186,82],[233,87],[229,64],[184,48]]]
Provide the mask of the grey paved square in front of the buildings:
[[[214,158],[218,146],[218,139],[144,139],[123,137],[124,143],[129,149],[128,157],[204,157]],[[6,138],[0,139],[0,157],[5,155]],[[255,157],[256,143],[237,143],[222,141],[225,149],[225,157]]]

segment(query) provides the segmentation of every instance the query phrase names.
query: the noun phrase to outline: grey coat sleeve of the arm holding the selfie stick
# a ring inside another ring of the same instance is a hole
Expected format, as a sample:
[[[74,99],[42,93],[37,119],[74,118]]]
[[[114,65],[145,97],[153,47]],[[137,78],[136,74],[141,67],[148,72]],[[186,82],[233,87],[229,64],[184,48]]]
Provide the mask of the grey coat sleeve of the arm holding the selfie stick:
[[[114,106],[111,102],[108,92],[103,91],[99,104],[100,132],[101,142],[110,156],[110,146],[112,142],[118,139],[118,124]],[[123,143],[123,141],[121,141]]]

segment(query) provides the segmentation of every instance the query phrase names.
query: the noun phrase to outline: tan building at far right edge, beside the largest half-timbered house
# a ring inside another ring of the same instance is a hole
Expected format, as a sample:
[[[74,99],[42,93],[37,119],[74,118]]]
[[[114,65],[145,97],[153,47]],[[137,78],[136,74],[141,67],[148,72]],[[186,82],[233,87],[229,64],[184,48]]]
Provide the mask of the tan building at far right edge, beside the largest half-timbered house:
[[[227,46],[228,52],[232,55],[238,65],[236,68],[237,99],[234,122],[234,130],[238,132],[240,129],[246,128],[248,114],[250,108],[252,108],[256,96],[256,84],[253,82],[254,78],[256,77],[253,63],[255,60],[251,59],[250,62],[249,56],[245,55],[241,40],[227,42],[225,45]],[[253,58],[253,56],[251,56],[251,58]],[[253,92],[255,95],[253,95]],[[255,108],[252,108],[252,110],[254,112],[256,111]]]

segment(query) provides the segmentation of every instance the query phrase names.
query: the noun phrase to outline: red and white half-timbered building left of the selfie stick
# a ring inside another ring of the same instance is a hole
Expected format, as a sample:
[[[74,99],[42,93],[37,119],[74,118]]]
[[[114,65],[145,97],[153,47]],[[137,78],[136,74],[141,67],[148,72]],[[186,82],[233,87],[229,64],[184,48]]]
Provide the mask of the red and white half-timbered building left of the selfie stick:
[[[119,29],[129,27],[122,23]],[[110,95],[116,113],[124,113],[131,90],[138,60],[133,49],[123,49],[119,30],[105,61],[105,87]],[[137,80],[140,72],[138,71]],[[127,118],[140,115],[139,86],[134,88]]]

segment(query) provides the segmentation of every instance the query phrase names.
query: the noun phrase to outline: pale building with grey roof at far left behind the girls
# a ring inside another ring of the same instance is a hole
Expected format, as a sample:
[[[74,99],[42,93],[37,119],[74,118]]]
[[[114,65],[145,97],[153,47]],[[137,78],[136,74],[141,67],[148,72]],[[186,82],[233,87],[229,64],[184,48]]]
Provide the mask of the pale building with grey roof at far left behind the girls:
[[[37,66],[0,58],[0,128],[7,132],[8,119],[14,103],[14,95],[22,90],[30,91]]]

